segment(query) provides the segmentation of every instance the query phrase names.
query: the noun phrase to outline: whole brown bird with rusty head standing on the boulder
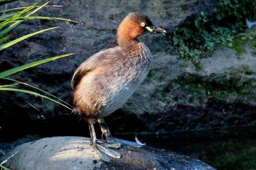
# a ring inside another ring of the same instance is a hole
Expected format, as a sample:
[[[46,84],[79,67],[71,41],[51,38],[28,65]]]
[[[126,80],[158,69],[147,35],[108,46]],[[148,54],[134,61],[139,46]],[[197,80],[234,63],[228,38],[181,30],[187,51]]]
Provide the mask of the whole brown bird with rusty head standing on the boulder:
[[[136,39],[144,31],[164,32],[154,26],[146,15],[128,14],[117,29],[118,45],[92,55],[74,73],[71,86],[75,111],[86,116],[91,123],[90,130],[99,119],[103,133],[106,133],[108,128],[102,123],[102,117],[120,108],[146,78],[151,52]],[[92,130],[91,136],[94,135]],[[108,139],[111,135],[109,131],[107,133]]]

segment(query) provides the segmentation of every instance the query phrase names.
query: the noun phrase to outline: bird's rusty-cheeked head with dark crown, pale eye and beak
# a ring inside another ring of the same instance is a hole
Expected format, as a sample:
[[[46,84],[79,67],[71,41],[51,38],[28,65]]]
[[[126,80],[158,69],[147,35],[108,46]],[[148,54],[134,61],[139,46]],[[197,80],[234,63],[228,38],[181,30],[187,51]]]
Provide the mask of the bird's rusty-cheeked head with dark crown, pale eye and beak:
[[[121,39],[131,40],[137,38],[143,32],[166,32],[155,26],[147,15],[141,13],[129,13],[119,24],[117,36]]]

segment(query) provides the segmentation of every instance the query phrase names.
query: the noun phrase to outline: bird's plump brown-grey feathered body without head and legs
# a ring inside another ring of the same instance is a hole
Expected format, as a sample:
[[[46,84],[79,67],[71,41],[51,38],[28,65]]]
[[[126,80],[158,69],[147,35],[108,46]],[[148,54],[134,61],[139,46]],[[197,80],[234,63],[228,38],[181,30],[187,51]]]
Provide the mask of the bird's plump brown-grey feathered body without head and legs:
[[[102,50],[84,61],[72,84],[74,103],[88,117],[103,117],[120,108],[146,78],[151,52],[139,42],[126,53],[120,46]]]

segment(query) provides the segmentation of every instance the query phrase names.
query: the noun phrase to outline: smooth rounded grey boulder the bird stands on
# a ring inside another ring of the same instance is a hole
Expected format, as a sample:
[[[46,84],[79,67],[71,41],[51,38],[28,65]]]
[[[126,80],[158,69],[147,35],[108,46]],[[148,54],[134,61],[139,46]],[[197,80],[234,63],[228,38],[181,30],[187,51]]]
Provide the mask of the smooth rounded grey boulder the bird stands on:
[[[76,136],[24,143],[5,154],[3,160],[16,150],[17,154],[5,163],[11,169],[214,169],[198,159],[149,146],[140,149],[122,146],[116,149],[122,158],[108,163],[100,160],[89,138]]]

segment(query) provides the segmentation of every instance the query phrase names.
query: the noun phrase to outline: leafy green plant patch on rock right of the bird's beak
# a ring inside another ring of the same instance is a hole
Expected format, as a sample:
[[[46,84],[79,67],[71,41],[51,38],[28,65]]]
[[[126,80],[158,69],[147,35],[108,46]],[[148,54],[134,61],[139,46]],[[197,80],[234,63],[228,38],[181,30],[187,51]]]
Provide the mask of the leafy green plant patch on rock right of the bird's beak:
[[[218,7],[212,15],[200,12],[195,20],[176,27],[168,36],[181,58],[190,59],[195,65],[199,58],[209,55],[218,44],[228,46],[237,53],[244,52],[240,40],[252,42],[254,36],[234,37],[244,32],[244,18],[253,16],[256,1],[253,0],[219,0]]]

